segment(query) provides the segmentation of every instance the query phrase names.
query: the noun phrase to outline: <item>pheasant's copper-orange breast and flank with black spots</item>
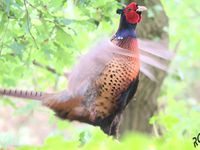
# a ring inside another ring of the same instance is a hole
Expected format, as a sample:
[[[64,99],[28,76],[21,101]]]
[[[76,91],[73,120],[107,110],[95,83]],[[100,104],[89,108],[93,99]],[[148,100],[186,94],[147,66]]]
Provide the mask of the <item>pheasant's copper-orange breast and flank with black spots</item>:
[[[126,44],[121,44],[126,41]],[[140,61],[137,41],[133,38],[114,40],[118,46],[129,48],[135,57],[115,54],[95,81],[97,97],[92,112],[97,118],[108,117],[118,109],[118,101],[139,74]]]

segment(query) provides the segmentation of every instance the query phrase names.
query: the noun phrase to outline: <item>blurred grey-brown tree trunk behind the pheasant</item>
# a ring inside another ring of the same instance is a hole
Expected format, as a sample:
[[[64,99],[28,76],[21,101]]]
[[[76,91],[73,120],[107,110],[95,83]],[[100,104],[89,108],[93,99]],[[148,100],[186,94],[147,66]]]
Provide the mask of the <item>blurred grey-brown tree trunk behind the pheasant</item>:
[[[127,3],[130,2],[132,1],[127,1]],[[143,13],[142,22],[137,27],[138,37],[165,41],[165,44],[162,45],[160,42],[153,42],[153,44],[159,49],[167,49],[168,36],[164,32],[164,29],[168,26],[168,19],[160,1],[138,0],[138,4],[148,8],[147,13]],[[163,47],[163,45],[165,46]],[[153,71],[156,73],[157,82],[151,81],[140,74],[139,87],[136,95],[123,114],[120,133],[128,130],[146,133],[152,132],[149,119],[157,110],[157,97],[159,96],[161,85],[166,76],[166,73],[161,70],[154,69]]]

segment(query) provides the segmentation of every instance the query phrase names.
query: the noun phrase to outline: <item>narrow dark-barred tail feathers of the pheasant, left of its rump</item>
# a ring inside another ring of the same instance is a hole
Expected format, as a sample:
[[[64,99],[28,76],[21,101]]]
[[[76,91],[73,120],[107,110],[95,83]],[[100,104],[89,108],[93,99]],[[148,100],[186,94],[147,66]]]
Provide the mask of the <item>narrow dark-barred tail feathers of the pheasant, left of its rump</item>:
[[[0,95],[18,97],[18,98],[23,98],[23,99],[43,100],[45,96],[50,95],[50,94],[43,93],[43,92],[36,92],[36,91],[0,88]]]

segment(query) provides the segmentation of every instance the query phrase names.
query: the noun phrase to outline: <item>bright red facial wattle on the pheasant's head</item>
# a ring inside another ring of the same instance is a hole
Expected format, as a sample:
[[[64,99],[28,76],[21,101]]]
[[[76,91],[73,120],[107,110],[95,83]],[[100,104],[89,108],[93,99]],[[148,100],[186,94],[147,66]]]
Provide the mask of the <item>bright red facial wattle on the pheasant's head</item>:
[[[124,9],[124,15],[128,23],[136,24],[141,21],[141,14],[138,14],[136,10],[138,6],[136,3],[132,2]]]

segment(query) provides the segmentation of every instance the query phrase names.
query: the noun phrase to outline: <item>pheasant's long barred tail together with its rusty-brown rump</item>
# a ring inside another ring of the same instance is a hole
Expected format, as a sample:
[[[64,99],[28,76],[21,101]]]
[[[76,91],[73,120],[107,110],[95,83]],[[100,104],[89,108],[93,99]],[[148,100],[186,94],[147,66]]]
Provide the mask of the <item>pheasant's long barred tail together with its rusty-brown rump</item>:
[[[82,97],[72,98],[67,91],[59,93],[45,93],[26,90],[12,90],[0,88],[0,95],[23,99],[39,100],[43,105],[53,109],[60,118],[90,122],[89,111],[81,106]]]

